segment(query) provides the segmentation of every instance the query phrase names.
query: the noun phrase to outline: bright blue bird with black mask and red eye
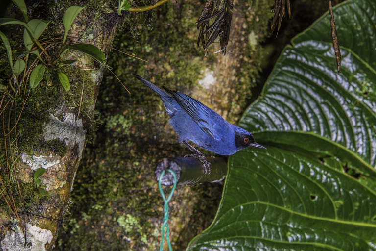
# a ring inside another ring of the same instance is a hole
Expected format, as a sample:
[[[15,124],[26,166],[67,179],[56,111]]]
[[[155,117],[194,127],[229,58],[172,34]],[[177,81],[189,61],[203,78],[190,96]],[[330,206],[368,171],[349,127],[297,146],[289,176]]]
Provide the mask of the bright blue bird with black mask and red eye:
[[[220,155],[232,155],[251,146],[266,149],[255,142],[251,133],[228,123],[200,101],[162,86],[164,91],[141,76],[133,75],[159,95],[170,117],[170,125],[179,134],[179,142],[200,160],[205,173],[210,173],[211,163],[203,153],[188,144],[188,141]]]

